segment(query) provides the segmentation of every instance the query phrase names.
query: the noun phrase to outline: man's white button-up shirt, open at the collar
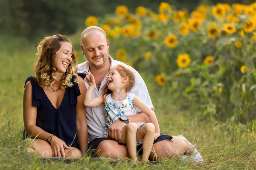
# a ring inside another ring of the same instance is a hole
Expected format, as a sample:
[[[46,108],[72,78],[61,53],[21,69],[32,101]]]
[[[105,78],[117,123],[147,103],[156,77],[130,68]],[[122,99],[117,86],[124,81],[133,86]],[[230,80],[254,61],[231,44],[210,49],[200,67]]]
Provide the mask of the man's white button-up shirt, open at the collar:
[[[111,65],[110,67],[113,67],[118,64],[122,64],[125,67],[131,69],[134,73],[135,76],[135,83],[133,88],[131,89],[131,93],[135,94],[139,99],[141,99],[146,105],[148,105],[149,108],[154,109],[150,96],[148,94],[148,89],[145,85],[144,80],[136,71],[134,68],[132,68],[129,65],[126,65],[123,62],[114,60],[109,56],[109,59],[111,60]],[[89,70],[89,63],[83,62],[78,65],[78,72],[79,73],[85,73],[85,71],[90,71]],[[100,96],[103,94],[102,88],[106,84],[106,79],[107,79],[108,74],[104,77],[104,79],[101,82],[99,91],[95,87],[93,91],[93,98]],[[89,87],[88,83],[84,80],[86,88]],[[138,109],[137,112],[140,112],[140,109]],[[88,142],[92,141],[95,138],[101,138],[104,137],[104,129],[106,127],[106,116],[105,116],[105,105],[100,105],[95,108],[86,108],[86,120],[87,120],[87,125],[88,125]]]

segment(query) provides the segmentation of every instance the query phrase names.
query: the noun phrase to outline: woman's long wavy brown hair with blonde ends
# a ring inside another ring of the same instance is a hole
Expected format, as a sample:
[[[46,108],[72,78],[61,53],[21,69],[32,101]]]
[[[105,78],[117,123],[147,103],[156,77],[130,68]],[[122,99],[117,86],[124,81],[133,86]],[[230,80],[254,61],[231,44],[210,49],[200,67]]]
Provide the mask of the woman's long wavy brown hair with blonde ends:
[[[51,86],[56,77],[54,76],[57,68],[55,68],[52,63],[54,61],[54,57],[56,51],[61,48],[61,42],[70,42],[68,38],[64,35],[57,34],[49,37],[45,37],[38,45],[38,60],[35,64],[34,74],[38,81],[38,84],[42,88],[47,88]],[[70,42],[71,44],[71,42]],[[72,49],[73,53],[73,49]],[[75,82],[78,80],[77,72],[77,63],[76,57],[72,54],[72,62],[68,65],[66,72],[63,74],[61,78],[60,88],[63,90],[67,87],[72,87],[73,83],[71,82],[72,77],[75,77]]]

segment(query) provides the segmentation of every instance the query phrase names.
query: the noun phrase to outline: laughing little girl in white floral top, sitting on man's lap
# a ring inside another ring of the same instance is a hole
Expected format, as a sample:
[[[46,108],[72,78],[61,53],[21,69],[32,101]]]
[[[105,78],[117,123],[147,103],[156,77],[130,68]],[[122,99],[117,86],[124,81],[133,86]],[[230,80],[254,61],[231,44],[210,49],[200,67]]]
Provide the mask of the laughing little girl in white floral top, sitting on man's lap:
[[[101,96],[92,98],[95,80],[92,74],[88,73],[86,82],[89,84],[85,94],[84,105],[87,107],[97,107],[105,104],[106,128],[104,135],[108,137],[108,127],[118,119],[126,123],[118,142],[127,144],[130,158],[137,161],[136,146],[137,141],[143,139],[142,162],[148,161],[148,157],[153,146],[154,139],[160,136],[160,129],[157,118],[151,109],[145,105],[137,96],[128,91],[134,85],[135,77],[133,72],[123,65],[116,65],[109,71],[106,80],[104,93]],[[137,114],[137,108],[145,113],[151,123],[129,123],[125,117]]]

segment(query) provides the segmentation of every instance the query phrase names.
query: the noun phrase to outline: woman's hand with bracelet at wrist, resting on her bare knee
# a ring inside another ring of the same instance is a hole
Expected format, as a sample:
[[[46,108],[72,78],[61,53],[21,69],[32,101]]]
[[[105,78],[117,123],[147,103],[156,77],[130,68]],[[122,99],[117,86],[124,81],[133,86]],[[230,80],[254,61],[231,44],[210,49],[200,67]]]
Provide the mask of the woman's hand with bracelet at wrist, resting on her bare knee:
[[[52,136],[50,139],[50,144],[52,147],[52,157],[65,158],[64,149],[70,149],[70,147],[68,147],[67,144],[57,136]]]

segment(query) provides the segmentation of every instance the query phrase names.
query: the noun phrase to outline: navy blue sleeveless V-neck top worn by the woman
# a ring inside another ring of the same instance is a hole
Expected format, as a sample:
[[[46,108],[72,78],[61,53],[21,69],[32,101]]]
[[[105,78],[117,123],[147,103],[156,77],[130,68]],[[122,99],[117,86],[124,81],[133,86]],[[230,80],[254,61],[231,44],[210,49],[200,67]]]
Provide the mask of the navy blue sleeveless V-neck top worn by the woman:
[[[38,85],[35,77],[26,79],[25,85],[30,81],[32,85],[32,105],[37,107],[36,126],[52,133],[67,146],[76,147],[79,149],[79,142],[76,136],[76,104],[77,97],[80,95],[79,86],[74,82],[75,77],[72,77],[73,86],[67,87],[61,105],[56,109],[43,88]],[[23,133],[23,139],[28,135]]]

